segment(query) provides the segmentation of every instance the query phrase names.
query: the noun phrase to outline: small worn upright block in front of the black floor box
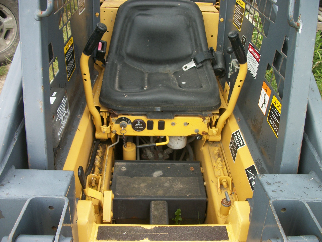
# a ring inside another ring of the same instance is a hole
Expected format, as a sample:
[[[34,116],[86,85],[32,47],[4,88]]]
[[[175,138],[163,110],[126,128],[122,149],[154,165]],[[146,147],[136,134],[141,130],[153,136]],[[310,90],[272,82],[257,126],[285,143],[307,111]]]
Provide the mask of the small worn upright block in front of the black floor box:
[[[166,201],[152,201],[150,203],[150,224],[169,224]]]

